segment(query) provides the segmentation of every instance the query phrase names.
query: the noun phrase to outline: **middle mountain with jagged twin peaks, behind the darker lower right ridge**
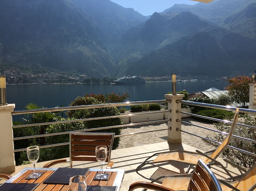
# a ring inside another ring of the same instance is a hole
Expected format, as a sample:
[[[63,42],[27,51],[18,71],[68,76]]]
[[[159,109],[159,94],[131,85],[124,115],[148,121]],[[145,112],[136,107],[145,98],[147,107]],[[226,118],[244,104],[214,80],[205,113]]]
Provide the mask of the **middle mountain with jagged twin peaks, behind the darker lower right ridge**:
[[[211,26],[209,23],[191,12],[173,14],[155,12],[145,23],[129,29],[123,35],[119,46],[112,51],[112,55],[116,55],[114,60],[117,64],[127,67],[155,49],[160,49],[183,36],[194,34],[209,26]],[[118,73],[122,72],[124,71],[121,68]]]

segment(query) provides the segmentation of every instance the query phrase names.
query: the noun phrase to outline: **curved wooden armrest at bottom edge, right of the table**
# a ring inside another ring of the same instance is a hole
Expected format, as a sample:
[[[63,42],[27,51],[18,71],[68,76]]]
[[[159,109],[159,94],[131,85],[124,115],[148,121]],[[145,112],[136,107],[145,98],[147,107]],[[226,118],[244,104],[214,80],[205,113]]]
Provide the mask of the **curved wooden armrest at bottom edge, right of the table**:
[[[133,191],[136,188],[146,188],[146,189],[151,189],[156,191],[174,191],[171,188],[167,188],[151,182],[134,182],[133,184],[130,185],[129,191]]]

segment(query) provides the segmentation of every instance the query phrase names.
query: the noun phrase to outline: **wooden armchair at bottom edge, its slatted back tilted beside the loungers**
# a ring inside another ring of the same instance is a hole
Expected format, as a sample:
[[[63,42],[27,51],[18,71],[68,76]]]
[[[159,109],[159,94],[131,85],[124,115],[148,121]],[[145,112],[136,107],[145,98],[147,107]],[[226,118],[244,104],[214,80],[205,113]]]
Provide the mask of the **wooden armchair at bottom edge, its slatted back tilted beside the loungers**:
[[[181,179],[177,179],[176,184],[182,184]],[[135,182],[130,185],[129,191],[133,191],[137,188],[151,189],[156,191],[175,191],[172,187],[158,185],[152,182]],[[220,183],[210,168],[199,159],[193,171],[192,177],[190,177],[189,185],[186,188],[187,191],[222,191]]]

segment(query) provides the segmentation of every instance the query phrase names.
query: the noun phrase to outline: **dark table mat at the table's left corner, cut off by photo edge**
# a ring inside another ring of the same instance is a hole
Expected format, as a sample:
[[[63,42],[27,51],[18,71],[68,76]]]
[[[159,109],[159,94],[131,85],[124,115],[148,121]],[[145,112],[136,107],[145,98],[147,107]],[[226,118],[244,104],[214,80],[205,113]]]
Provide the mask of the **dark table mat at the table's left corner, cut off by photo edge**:
[[[36,183],[3,183],[0,191],[33,191],[39,184]]]

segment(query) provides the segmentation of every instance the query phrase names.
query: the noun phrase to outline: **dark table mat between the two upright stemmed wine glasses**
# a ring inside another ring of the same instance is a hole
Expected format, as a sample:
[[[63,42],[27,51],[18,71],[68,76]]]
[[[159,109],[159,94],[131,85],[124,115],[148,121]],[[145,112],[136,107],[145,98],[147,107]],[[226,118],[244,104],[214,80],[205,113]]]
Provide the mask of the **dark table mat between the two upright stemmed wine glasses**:
[[[76,175],[85,175],[89,168],[58,168],[45,179],[45,184],[69,184],[69,179]]]

